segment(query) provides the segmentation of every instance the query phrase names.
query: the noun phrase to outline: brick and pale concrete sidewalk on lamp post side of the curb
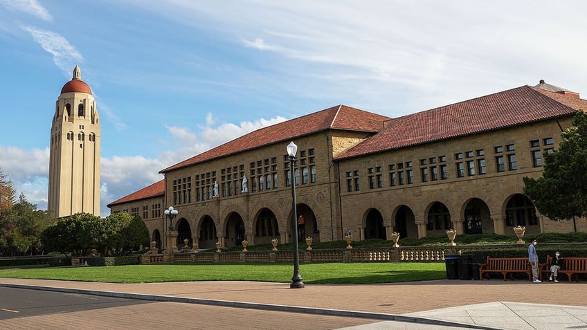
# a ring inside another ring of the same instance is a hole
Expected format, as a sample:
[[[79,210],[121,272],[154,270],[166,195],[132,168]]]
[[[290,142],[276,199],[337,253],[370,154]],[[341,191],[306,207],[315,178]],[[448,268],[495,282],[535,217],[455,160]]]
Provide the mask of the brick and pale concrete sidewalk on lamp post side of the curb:
[[[0,286],[365,319],[343,329],[587,329],[587,286],[575,283],[444,279],[290,289],[287,283],[265,282],[104,284],[0,278]]]

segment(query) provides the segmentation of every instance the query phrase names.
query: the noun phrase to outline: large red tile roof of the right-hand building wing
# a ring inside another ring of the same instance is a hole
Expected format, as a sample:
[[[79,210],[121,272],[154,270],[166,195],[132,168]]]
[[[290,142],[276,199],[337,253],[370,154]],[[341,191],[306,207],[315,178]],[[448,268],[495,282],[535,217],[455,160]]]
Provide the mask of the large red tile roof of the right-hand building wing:
[[[587,100],[521,86],[388,120],[378,134],[346,150],[336,159],[570,116],[578,109],[587,109]]]

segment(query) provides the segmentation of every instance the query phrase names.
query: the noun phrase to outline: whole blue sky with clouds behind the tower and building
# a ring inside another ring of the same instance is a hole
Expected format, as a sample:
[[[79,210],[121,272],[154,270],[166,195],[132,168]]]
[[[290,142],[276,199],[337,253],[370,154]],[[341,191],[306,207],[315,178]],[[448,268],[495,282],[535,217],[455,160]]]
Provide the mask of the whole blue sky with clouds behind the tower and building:
[[[101,118],[106,216],[160,169],[336,104],[397,117],[541,79],[587,93],[585,12],[542,0],[0,0],[0,169],[46,209],[51,119],[76,64]]]

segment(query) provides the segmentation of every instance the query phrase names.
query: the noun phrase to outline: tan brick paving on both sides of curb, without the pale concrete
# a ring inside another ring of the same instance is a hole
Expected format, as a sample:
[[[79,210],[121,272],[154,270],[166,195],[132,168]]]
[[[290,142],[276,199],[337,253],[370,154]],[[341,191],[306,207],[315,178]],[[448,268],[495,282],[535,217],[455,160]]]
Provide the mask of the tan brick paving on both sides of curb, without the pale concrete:
[[[210,300],[309,306],[391,314],[404,314],[441,309],[449,306],[498,301],[587,306],[587,295],[585,295],[586,284],[569,284],[563,282],[559,284],[533,284],[523,280],[504,282],[498,279],[491,279],[491,281],[444,279],[430,282],[410,282],[406,284],[371,285],[306,284],[306,287],[301,289],[290,289],[289,284],[263,282],[100,284],[1,278],[0,283],[151,295],[172,295],[176,297],[195,297]],[[245,329],[255,329],[255,324],[257,324],[256,326],[260,326],[259,320],[263,320],[263,322],[258,329],[296,329],[300,324],[312,324],[312,329],[334,329],[370,322],[365,319],[294,313],[288,313],[286,316],[283,312],[253,311],[203,305],[175,304],[170,302],[128,306],[116,308],[113,311],[102,309],[100,311],[80,312],[79,315],[71,315],[71,317],[88,320],[87,315],[83,315],[84,313],[91,313],[94,316],[103,313],[103,320],[116,320],[116,325],[119,326],[116,329],[131,329],[132,327],[135,327],[135,329],[161,329],[162,324],[168,324],[168,322],[172,322],[173,324],[198,324],[198,327],[188,327],[188,329],[209,329],[212,326],[218,326],[219,322],[224,322],[227,327],[232,325]],[[118,322],[118,318],[120,317],[126,319],[123,315],[138,315],[139,313],[147,313],[150,317],[143,318],[143,323],[136,323],[136,321],[131,320],[128,325],[125,325],[123,321]],[[50,322],[53,317],[53,315],[46,315],[39,318],[42,318],[44,322]],[[291,320],[291,323],[289,323],[289,320]],[[25,320],[21,320],[21,322],[25,322]],[[37,321],[30,320],[30,322],[29,326],[31,324],[34,325]],[[75,324],[75,322],[72,324]],[[210,327],[206,327],[206,324]],[[8,324],[0,324],[3,329],[21,329],[4,327],[5,325]],[[150,325],[153,325],[153,327],[150,327]],[[201,328],[199,328],[200,325]],[[63,327],[57,328],[64,329]],[[107,324],[104,327],[100,327],[100,324],[91,324],[91,328],[111,329]],[[33,327],[33,329],[39,328]]]

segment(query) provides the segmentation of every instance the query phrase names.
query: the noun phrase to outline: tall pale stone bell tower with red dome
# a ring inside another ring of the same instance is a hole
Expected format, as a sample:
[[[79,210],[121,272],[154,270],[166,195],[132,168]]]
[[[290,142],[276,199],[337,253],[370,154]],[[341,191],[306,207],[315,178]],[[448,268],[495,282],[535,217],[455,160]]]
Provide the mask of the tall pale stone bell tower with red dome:
[[[100,117],[78,66],[55,102],[47,209],[57,218],[100,216]]]

